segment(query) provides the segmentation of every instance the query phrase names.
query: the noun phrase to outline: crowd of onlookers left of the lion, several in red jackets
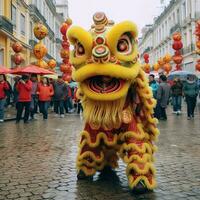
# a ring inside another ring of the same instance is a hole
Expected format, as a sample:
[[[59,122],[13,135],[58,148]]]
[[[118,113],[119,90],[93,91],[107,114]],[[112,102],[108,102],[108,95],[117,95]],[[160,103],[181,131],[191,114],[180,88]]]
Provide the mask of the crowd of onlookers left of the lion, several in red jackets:
[[[47,120],[50,107],[61,118],[65,117],[65,113],[77,111],[79,114],[82,110],[76,98],[77,86],[70,87],[62,76],[53,80],[47,77],[38,79],[35,74],[22,75],[15,77],[14,81],[11,87],[6,76],[0,75],[0,122],[4,122],[4,111],[8,106],[16,108],[16,123],[21,119],[28,123],[35,119],[36,113],[41,113]]]

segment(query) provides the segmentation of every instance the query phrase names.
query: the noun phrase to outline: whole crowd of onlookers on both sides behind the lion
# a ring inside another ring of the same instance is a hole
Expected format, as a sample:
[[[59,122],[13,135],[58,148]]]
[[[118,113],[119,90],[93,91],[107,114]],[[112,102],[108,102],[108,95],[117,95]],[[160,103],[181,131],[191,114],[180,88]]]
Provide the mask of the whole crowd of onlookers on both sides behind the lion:
[[[57,80],[48,79],[32,74],[22,75],[14,78],[13,87],[6,80],[5,75],[0,75],[0,122],[4,122],[4,110],[9,105],[15,106],[16,123],[21,119],[28,123],[35,119],[36,113],[42,113],[43,119],[48,119],[49,107],[55,112],[56,116],[65,117],[65,113],[82,110],[80,101],[76,98],[77,86],[70,87],[66,84],[62,76]],[[172,104],[173,113],[180,115],[183,99],[187,104],[188,120],[194,118],[194,110],[199,95],[199,86],[193,76],[188,76],[186,81],[179,78],[169,84],[167,77],[160,75],[155,80],[153,74],[149,75],[149,85],[152,88],[153,96],[157,100],[154,115],[159,120],[167,120],[166,108]],[[24,116],[22,117],[24,111]]]

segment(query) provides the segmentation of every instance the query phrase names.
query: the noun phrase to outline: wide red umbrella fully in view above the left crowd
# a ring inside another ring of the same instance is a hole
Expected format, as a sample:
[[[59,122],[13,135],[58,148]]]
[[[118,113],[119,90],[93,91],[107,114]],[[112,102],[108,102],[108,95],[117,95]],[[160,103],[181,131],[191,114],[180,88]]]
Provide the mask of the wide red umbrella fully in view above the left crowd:
[[[54,72],[40,68],[36,65],[28,65],[26,67],[20,67],[18,69],[14,69],[11,71],[11,74],[38,74],[38,75],[45,75],[45,74],[54,74]]]

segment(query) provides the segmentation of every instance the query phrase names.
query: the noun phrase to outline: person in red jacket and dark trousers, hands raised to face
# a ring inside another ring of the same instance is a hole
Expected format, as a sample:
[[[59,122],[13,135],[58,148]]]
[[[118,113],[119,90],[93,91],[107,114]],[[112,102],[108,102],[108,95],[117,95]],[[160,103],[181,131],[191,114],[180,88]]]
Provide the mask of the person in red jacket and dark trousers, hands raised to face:
[[[32,82],[29,80],[28,75],[22,75],[22,78],[16,85],[16,89],[19,93],[16,123],[20,121],[24,108],[25,108],[24,123],[28,123],[30,104],[31,104],[31,89],[32,89]]]

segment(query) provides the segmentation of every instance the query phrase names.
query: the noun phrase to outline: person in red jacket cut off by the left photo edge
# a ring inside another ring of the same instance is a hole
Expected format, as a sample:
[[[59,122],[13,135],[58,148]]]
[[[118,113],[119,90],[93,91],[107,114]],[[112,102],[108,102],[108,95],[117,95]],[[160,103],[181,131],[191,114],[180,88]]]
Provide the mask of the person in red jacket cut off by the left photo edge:
[[[4,81],[4,77],[0,74],[0,122],[4,121],[4,109],[6,103],[6,91],[9,90],[9,85]]]

